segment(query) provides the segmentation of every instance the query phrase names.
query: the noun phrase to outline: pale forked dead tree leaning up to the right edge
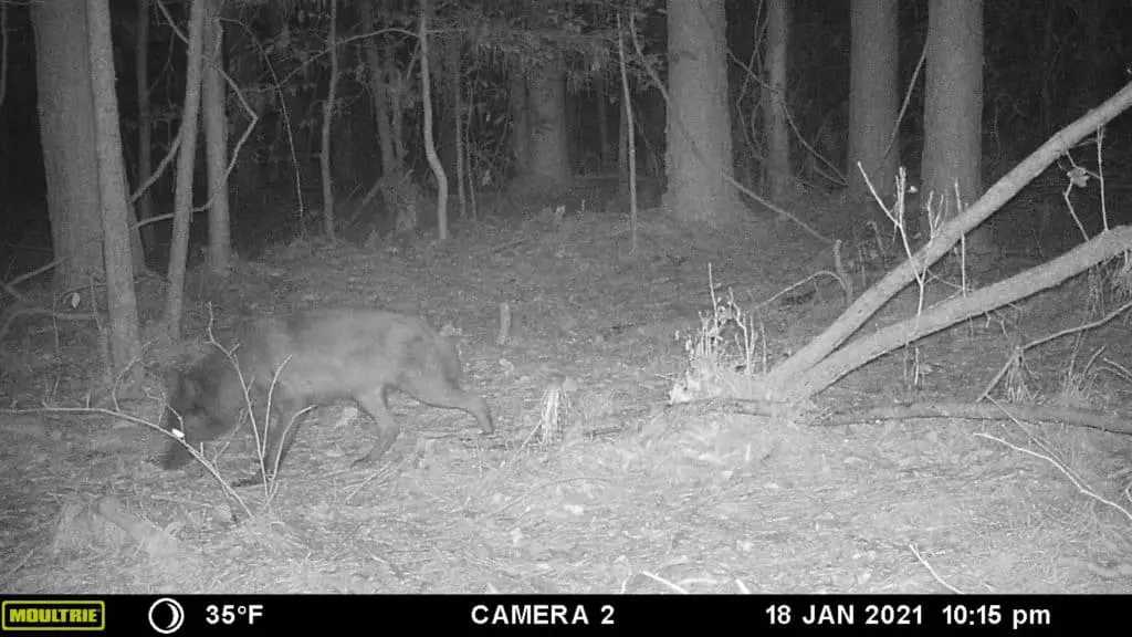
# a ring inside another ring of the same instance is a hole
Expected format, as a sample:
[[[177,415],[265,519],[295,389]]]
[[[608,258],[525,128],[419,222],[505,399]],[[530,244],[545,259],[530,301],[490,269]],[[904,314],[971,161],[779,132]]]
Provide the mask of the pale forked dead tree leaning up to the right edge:
[[[764,400],[800,402],[825,390],[863,365],[942,331],[955,323],[1026,298],[1072,278],[1132,248],[1132,227],[1106,230],[1061,257],[976,290],[938,303],[918,316],[878,330],[838,349],[885,303],[938,261],[964,235],[994,214],[1063,153],[1132,105],[1132,84],[1050,137],[1006,173],[977,202],[940,228],[938,235],[910,260],[865,291],[821,336],[771,370],[764,381]]]

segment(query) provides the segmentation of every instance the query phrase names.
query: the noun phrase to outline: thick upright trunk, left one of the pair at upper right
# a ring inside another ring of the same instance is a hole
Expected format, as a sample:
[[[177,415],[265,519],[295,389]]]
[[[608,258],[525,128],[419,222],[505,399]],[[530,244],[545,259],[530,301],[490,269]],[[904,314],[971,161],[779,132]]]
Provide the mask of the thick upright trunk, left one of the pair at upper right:
[[[851,20],[849,194],[871,196],[860,172],[864,169],[877,194],[889,197],[900,164],[900,145],[892,137],[899,104],[897,0],[854,0]]]

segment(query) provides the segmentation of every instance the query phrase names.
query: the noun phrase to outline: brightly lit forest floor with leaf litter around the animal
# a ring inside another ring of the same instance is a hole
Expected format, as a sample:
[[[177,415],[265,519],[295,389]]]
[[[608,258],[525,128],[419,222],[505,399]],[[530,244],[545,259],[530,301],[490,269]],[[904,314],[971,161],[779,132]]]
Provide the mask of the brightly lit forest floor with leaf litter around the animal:
[[[204,347],[203,298],[221,325],[238,311],[368,303],[447,326],[465,385],[487,397],[499,427],[484,438],[460,411],[394,398],[401,438],[379,462],[352,467],[371,444],[365,416],[326,406],[302,428],[269,502],[261,489],[240,491],[251,517],[199,466],[158,468],[166,439],[149,427],[23,410],[85,405],[97,341],[87,323],[14,326],[0,398],[19,413],[0,414],[0,591],[1132,591],[1130,436],[947,419],[820,427],[712,401],[670,405],[688,366],[677,333],[694,332],[711,309],[709,265],[719,290],[757,314],[758,357],[773,365],[843,308],[827,280],[764,304],[832,269],[830,253],[763,215],[718,232],[646,210],[631,254],[627,216],[591,195],[560,212],[535,205],[456,221],[446,245],[428,236],[333,249],[297,243],[238,262],[223,287],[190,282],[198,301],[185,351]],[[846,240],[858,294],[883,273],[869,252],[875,236],[846,231],[864,223],[839,202],[790,207]],[[1005,258],[981,277],[1026,263]],[[158,283],[140,289],[146,307],[160,307]],[[815,402],[972,401],[1014,345],[1080,324],[1090,289],[1078,278],[952,328],[849,374]],[[512,324],[499,345],[501,303]],[[915,307],[908,292],[866,330]],[[1129,377],[1101,367],[1129,368],[1130,347],[1122,320],[1081,342],[1060,339],[1029,353],[1027,373],[994,396],[1010,398],[1009,387],[1014,399],[1050,401],[1069,377],[1088,406],[1126,410]],[[173,354],[147,353],[151,397],[121,411],[160,421],[156,370]],[[551,421],[560,433],[543,436],[540,423]],[[225,478],[255,464],[241,431],[218,457]],[[135,535],[115,518],[137,520]]]

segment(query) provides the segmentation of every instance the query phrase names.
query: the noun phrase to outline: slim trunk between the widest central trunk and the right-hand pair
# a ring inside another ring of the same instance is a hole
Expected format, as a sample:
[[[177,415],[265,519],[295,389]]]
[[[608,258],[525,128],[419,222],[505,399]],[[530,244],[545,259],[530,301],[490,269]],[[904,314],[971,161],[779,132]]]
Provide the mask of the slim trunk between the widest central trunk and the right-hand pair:
[[[787,0],[766,3],[766,86],[763,125],[766,138],[766,196],[775,203],[790,196],[790,129],[786,117],[786,65],[790,16]]]

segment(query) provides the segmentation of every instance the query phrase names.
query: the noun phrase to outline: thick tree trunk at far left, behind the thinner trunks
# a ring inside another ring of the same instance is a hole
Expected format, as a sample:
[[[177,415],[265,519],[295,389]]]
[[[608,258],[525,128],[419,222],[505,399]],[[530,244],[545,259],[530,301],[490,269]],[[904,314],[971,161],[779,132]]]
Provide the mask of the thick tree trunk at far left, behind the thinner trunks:
[[[54,282],[85,288],[104,275],[98,163],[85,2],[34,2],[40,139],[55,258]]]

